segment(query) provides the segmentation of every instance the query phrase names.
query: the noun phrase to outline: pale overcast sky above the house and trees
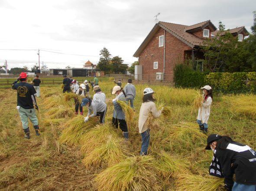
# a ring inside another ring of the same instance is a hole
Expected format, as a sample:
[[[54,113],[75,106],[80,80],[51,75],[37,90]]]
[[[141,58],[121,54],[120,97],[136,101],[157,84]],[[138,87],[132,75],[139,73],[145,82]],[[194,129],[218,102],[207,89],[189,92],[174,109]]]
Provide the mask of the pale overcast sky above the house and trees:
[[[107,47],[124,63],[137,59],[133,53],[159,21],[193,25],[208,19],[217,27],[253,25],[256,0],[0,0],[0,49],[40,51],[49,68],[82,67],[88,59],[96,64]],[[0,50],[0,65],[32,67],[38,55],[31,51]]]

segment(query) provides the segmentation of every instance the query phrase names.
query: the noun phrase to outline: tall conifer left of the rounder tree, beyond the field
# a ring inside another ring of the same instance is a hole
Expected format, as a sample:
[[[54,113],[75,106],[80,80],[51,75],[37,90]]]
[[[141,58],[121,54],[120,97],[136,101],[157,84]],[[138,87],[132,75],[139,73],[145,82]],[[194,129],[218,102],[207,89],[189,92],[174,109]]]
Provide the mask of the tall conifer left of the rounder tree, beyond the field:
[[[110,72],[110,52],[107,50],[106,47],[104,47],[102,50],[100,50],[100,61],[98,62],[96,68],[100,69],[101,71],[104,71],[106,73]]]

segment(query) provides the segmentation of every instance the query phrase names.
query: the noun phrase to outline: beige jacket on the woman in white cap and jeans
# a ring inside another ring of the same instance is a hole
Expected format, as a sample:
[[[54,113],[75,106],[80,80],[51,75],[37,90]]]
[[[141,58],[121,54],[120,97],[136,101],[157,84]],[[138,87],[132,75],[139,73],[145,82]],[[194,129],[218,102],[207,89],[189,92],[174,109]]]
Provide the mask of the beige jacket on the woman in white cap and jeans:
[[[148,126],[145,124],[148,119],[149,113],[155,118],[158,118],[161,114],[161,110],[156,109],[156,104],[152,101],[144,102],[141,104],[139,110],[139,133],[143,133],[148,129]]]

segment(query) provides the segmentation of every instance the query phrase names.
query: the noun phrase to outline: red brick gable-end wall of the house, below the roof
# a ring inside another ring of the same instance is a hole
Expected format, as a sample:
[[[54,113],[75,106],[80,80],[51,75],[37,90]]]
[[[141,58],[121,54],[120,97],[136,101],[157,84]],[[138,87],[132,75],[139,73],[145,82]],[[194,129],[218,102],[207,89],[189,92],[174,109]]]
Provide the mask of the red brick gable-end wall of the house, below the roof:
[[[143,66],[143,79],[156,78],[156,72],[163,72],[164,47],[159,47],[159,36],[164,35],[160,28],[139,55],[139,65]],[[183,62],[184,51],[191,50],[187,44],[166,31],[165,33],[165,80],[173,81],[175,63]],[[158,62],[158,69],[153,63]]]

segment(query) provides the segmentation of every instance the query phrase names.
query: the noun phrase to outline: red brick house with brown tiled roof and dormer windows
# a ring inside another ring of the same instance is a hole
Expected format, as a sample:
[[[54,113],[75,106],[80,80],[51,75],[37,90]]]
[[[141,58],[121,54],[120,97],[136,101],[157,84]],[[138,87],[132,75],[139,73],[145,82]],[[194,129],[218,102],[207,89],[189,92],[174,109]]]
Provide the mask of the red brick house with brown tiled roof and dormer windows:
[[[139,58],[137,76],[142,80],[172,82],[175,64],[183,63],[186,58],[204,59],[200,47],[206,39],[215,38],[217,32],[210,20],[191,26],[156,23],[133,55]],[[248,35],[244,27],[230,29],[230,33],[238,35],[239,41]]]

